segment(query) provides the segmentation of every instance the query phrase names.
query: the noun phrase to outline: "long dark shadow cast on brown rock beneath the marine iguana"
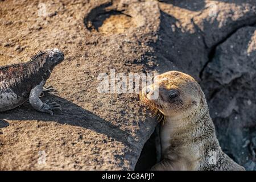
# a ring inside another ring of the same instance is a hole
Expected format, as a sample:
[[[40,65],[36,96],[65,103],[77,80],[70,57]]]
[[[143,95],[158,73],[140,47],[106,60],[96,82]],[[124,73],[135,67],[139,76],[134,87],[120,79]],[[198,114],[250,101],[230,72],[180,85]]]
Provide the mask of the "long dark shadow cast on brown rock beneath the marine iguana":
[[[46,97],[42,98],[42,101],[46,100],[54,100],[58,104],[61,104],[62,111],[56,111],[54,115],[51,116],[48,113],[40,113],[34,110],[32,106],[26,102],[16,109],[2,112],[0,114],[0,128],[9,126],[9,123],[3,121],[3,119],[19,121],[55,121],[61,124],[84,127],[85,129],[112,137],[124,144],[127,143],[126,138],[129,137],[129,134],[92,112],[82,109],[82,107],[73,104],[73,102],[53,94],[48,94]]]

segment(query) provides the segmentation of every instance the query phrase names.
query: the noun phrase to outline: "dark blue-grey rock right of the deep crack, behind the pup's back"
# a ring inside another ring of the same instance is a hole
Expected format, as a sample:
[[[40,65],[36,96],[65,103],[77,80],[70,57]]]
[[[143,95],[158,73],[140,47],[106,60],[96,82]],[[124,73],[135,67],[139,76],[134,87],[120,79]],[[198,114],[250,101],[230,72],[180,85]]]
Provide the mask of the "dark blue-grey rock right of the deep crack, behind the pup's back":
[[[221,146],[253,169],[256,130],[256,28],[240,28],[217,47],[201,85]]]

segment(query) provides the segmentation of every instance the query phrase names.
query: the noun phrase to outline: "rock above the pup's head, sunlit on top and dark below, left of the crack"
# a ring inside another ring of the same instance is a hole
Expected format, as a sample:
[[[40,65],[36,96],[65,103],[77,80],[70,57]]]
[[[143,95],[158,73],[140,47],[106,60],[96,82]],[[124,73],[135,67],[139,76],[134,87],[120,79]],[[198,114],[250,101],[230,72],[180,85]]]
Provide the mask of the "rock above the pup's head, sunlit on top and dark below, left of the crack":
[[[160,72],[175,69],[200,81],[216,45],[238,28],[256,23],[255,1],[215,1],[212,5],[211,1],[159,3],[161,23],[154,48]]]

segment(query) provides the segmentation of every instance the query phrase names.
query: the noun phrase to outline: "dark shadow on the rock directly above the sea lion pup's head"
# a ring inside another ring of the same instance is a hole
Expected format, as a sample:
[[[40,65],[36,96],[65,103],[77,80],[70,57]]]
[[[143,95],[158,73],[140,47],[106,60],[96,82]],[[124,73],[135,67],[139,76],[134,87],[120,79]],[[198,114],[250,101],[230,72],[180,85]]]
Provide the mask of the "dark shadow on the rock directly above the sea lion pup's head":
[[[155,61],[159,73],[171,70],[182,71],[200,80],[199,73],[207,63],[210,49],[205,47],[199,27],[193,24],[195,30],[198,30],[193,33],[181,30],[182,28],[176,26],[178,19],[162,10],[160,14],[158,40],[151,44],[155,49],[154,56],[157,57]]]

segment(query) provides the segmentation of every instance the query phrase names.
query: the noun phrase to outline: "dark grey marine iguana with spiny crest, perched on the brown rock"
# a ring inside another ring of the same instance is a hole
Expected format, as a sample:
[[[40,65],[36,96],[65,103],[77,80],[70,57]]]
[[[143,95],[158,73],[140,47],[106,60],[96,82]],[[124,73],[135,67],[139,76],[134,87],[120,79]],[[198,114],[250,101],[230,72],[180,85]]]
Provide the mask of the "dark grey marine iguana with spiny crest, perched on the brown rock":
[[[61,110],[56,102],[42,102],[43,92],[51,92],[52,86],[44,88],[53,68],[64,60],[59,49],[39,51],[27,63],[0,67],[0,111],[14,109],[29,100],[34,109],[53,115]]]

